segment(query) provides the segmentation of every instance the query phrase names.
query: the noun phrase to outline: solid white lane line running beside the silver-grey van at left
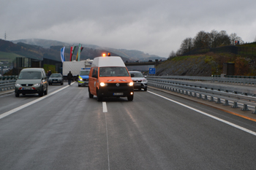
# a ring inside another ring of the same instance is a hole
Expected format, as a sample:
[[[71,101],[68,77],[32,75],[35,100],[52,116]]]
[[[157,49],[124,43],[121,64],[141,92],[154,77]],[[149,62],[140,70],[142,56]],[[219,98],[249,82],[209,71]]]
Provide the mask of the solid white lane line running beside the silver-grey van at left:
[[[68,87],[69,87],[69,85],[67,85],[67,86],[65,86],[64,88],[61,88],[61,89],[59,89],[59,90],[53,91],[52,93],[50,93],[50,94],[48,94],[48,95],[46,95],[46,96],[42,96],[42,97],[40,97],[40,98],[37,98],[37,99],[34,100],[34,101],[30,101],[30,102],[27,103],[27,104],[23,104],[23,105],[21,105],[20,107],[16,107],[15,109],[12,109],[12,110],[10,110],[10,111],[8,111],[8,112],[5,112],[5,113],[3,113],[3,114],[0,115],[0,119],[2,119],[2,118],[4,118],[4,117],[7,117],[8,115],[11,115],[11,114],[14,113],[14,112],[17,112],[17,111],[19,111],[20,109],[23,109],[23,108],[25,108],[25,107],[29,107],[31,104],[35,104],[35,103],[37,103],[38,101],[42,101],[43,99],[48,98],[49,96],[52,96],[53,94],[58,93],[59,91],[64,90],[65,88],[68,88]]]

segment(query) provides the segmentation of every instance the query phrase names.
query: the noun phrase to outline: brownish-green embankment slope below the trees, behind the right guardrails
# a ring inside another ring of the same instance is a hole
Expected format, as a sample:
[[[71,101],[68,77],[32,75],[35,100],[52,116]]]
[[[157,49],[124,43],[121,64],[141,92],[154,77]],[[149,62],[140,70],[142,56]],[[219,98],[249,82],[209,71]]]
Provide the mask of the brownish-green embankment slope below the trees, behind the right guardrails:
[[[157,66],[156,75],[208,77],[222,74],[224,63],[234,63],[235,75],[256,76],[256,42],[238,47],[238,54],[211,52],[169,58]]]

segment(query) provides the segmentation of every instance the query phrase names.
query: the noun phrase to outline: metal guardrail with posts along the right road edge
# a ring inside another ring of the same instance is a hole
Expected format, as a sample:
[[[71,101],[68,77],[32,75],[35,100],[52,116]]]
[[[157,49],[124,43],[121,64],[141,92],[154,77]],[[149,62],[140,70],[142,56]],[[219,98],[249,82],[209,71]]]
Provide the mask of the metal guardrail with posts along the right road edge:
[[[242,110],[248,111],[248,105],[255,107],[252,112],[256,114],[256,88],[246,88],[241,86],[231,87],[227,85],[214,85],[214,83],[206,82],[189,82],[181,80],[167,80],[156,77],[147,77],[148,85],[165,90],[171,90],[188,96],[202,98],[203,100],[222,103],[221,99],[225,100],[224,105],[229,106],[229,101],[233,101],[233,107],[238,107],[238,103],[243,104]]]

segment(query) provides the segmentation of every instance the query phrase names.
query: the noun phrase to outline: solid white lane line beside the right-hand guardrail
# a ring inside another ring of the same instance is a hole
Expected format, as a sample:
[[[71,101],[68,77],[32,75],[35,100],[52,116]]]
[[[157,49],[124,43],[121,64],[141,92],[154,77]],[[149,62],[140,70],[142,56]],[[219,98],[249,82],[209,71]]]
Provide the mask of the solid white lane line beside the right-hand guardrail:
[[[151,93],[151,94],[154,94],[154,95],[156,95],[156,96],[165,98],[165,99],[168,100],[168,101],[173,101],[173,100],[170,99],[170,98],[167,98],[167,97],[165,97],[165,96],[161,96],[161,95],[159,95],[159,94],[157,94],[157,93],[153,93],[153,92],[151,92],[151,91],[148,91],[148,93]],[[236,124],[234,124],[234,123],[230,123],[230,122],[228,122],[228,121],[226,121],[226,120],[220,119],[219,117],[215,117],[215,116],[210,115],[210,114],[208,114],[208,113],[206,113],[206,112],[200,111],[200,110],[195,109],[195,108],[193,108],[193,107],[189,107],[189,106],[187,106],[187,105],[185,105],[185,104],[181,104],[181,103],[179,103],[178,101],[173,101],[173,103],[179,104],[179,105],[181,105],[181,106],[183,106],[183,107],[187,107],[188,109],[192,109],[192,110],[194,110],[195,112],[199,112],[200,114],[206,115],[206,116],[211,117],[211,118],[213,118],[213,119],[215,119],[215,120],[219,120],[219,121],[222,122],[222,123],[226,123],[227,125],[231,125],[231,126],[233,126],[233,127],[235,127],[235,128],[238,128],[238,129],[240,129],[240,130],[242,130],[242,131],[245,131],[245,132],[247,132],[247,133],[249,133],[249,134],[252,134],[252,135],[256,136],[256,132],[255,132],[255,131],[251,131],[251,130],[249,130],[249,129],[247,129],[247,128],[243,128],[243,127],[241,127],[241,126],[239,126],[239,125],[236,125]]]

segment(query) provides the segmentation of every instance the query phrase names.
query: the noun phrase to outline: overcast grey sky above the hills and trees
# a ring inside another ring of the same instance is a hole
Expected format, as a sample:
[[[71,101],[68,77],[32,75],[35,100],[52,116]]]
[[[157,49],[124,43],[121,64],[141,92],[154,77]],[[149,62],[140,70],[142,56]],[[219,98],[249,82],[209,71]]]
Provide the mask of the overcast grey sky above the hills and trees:
[[[51,39],[167,58],[199,31],[256,37],[255,0],[0,0],[0,39]]]

